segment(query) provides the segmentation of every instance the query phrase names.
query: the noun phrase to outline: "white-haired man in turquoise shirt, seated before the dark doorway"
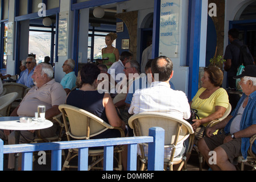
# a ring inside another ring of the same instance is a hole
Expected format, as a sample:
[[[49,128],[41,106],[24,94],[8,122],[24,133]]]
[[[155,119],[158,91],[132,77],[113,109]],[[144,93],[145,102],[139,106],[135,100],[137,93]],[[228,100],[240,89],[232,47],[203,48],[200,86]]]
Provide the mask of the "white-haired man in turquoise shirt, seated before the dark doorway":
[[[76,75],[73,72],[75,68],[75,60],[67,59],[63,66],[63,72],[65,72],[65,76],[62,78],[60,84],[63,86],[65,92],[68,94],[71,92],[72,88],[76,86]]]

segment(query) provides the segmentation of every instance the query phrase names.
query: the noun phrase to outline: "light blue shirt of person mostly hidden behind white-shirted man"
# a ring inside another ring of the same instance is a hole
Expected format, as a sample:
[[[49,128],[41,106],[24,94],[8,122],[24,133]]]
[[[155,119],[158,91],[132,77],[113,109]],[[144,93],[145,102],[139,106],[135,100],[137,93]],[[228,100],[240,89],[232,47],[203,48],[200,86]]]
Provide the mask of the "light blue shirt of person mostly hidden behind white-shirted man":
[[[174,84],[172,84],[171,81],[169,81],[169,84],[171,85],[171,89],[175,90]],[[133,99],[133,94],[138,89],[144,89],[150,87],[150,84],[147,82],[147,76],[143,76],[138,78],[133,82],[133,85],[130,86],[129,92],[127,93],[125,103],[131,104],[131,100]]]

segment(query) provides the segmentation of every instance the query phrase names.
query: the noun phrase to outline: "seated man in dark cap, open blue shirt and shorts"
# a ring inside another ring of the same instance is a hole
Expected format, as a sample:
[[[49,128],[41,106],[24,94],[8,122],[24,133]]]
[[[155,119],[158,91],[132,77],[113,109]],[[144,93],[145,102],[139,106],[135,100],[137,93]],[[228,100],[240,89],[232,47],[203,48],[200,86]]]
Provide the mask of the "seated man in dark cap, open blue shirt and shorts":
[[[207,128],[207,137],[200,139],[198,143],[205,161],[216,171],[236,170],[234,165],[237,163],[237,157],[242,155],[247,158],[250,137],[256,134],[256,65],[248,65],[241,75],[234,78],[241,78],[239,84],[243,90],[243,96],[236,109],[222,122]],[[224,132],[213,136],[214,131],[218,129],[224,129]],[[214,151],[216,163],[211,160],[210,151]],[[256,142],[253,143],[253,152],[256,154]]]

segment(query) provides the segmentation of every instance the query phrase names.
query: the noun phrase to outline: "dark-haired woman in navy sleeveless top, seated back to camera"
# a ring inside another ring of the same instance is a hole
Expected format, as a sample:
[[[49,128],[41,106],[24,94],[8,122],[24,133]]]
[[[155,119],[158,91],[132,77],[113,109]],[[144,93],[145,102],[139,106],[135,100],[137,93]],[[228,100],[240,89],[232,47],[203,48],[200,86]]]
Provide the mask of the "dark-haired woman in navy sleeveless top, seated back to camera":
[[[99,93],[97,89],[97,77],[100,69],[94,64],[85,64],[81,71],[81,88],[73,90],[67,97],[67,104],[80,109],[84,109],[97,117],[103,119],[106,123],[114,127],[122,127],[126,130],[125,122],[117,115],[113,100],[108,93]],[[95,138],[115,138],[121,137],[118,130],[106,130]]]

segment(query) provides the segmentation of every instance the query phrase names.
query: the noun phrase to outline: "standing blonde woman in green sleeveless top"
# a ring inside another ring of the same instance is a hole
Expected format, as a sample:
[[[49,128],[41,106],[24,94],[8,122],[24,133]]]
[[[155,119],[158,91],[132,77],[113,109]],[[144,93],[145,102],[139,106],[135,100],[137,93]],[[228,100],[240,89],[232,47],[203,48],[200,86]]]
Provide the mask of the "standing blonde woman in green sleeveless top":
[[[114,40],[117,39],[117,34],[110,32],[108,35],[105,37],[105,43],[106,46],[101,50],[102,52],[102,59],[106,59],[107,57],[109,60],[103,60],[103,64],[105,64],[108,68],[111,67],[111,65],[119,60],[119,51],[117,48],[114,48],[112,46]],[[100,63],[100,64],[102,64]]]

